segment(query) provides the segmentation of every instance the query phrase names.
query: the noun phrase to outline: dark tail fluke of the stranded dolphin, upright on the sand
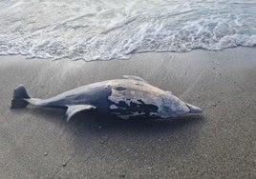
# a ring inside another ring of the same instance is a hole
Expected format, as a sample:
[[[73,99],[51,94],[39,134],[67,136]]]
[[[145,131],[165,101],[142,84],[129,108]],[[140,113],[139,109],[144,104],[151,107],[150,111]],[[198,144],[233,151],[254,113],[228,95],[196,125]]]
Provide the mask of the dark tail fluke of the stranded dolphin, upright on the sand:
[[[13,99],[11,100],[11,109],[24,109],[29,102],[26,99],[30,99],[27,90],[23,85],[19,85],[14,89]]]

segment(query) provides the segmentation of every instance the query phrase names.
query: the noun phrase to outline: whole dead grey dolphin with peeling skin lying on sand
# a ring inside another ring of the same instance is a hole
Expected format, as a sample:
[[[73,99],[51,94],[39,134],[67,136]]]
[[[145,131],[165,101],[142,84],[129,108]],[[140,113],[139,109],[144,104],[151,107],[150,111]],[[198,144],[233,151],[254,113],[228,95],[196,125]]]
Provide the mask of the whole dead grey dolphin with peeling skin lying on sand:
[[[37,107],[67,109],[69,121],[76,112],[96,109],[107,111],[122,119],[133,117],[171,118],[186,113],[200,113],[193,105],[182,102],[170,91],[158,89],[145,80],[131,75],[126,79],[97,82],[72,89],[48,99],[31,98],[23,85],[14,89],[11,109]]]

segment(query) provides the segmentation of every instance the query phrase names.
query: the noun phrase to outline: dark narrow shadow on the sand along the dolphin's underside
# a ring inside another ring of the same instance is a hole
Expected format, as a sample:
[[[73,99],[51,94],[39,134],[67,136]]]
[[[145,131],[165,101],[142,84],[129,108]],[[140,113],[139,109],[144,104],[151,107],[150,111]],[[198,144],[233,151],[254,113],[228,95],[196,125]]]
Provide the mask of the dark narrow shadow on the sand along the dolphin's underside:
[[[65,110],[63,109],[45,109],[45,108],[30,108],[18,109],[15,112],[31,113],[34,116],[44,118],[47,121],[54,123],[66,123]],[[204,122],[204,117],[201,114],[188,114],[181,117],[170,119],[147,119],[133,118],[120,119],[108,113],[98,113],[97,111],[78,112],[72,117],[66,126],[77,129],[93,129],[93,130],[176,130],[181,128],[190,128],[190,126],[201,126]]]

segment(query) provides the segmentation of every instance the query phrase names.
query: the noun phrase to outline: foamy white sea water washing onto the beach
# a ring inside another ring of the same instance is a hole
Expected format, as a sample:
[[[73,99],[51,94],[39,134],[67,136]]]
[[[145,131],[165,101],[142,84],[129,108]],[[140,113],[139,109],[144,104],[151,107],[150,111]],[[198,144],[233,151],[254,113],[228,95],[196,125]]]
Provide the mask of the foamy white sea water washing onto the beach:
[[[110,60],[256,46],[256,0],[0,0],[0,54]]]

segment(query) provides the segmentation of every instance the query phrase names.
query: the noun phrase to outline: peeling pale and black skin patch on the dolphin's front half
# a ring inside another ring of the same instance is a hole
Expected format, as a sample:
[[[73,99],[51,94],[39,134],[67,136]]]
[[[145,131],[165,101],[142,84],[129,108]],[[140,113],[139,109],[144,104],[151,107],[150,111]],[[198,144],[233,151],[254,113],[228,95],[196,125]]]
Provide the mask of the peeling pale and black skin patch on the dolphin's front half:
[[[189,112],[189,109],[171,92],[158,89],[147,83],[127,80],[112,84],[109,101],[118,108],[121,118],[147,115],[149,117],[168,118]],[[112,110],[117,108],[111,105]]]

